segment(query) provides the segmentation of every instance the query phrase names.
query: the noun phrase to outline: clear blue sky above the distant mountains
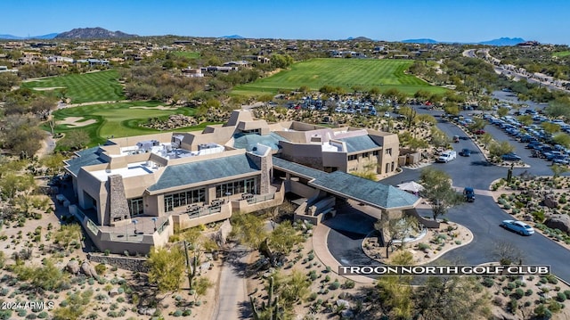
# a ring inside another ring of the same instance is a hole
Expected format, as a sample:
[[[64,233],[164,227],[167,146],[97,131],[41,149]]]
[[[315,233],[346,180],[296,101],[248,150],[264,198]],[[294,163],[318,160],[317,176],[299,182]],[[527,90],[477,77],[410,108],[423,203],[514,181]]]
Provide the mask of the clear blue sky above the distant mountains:
[[[102,27],[140,36],[479,42],[522,37],[570,45],[568,0],[3,0],[0,34]]]

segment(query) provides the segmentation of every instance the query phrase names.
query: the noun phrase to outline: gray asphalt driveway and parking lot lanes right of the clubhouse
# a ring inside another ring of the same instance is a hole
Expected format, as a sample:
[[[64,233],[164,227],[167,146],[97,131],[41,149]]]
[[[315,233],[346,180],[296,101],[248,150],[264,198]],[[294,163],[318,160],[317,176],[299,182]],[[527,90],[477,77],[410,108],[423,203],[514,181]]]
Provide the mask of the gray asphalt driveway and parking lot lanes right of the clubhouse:
[[[440,122],[438,127],[449,136],[466,136],[459,127],[451,123]],[[541,159],[531,158],[530,152],[525,150],[525,144],[510,141],[509,136],[497,127],[487,126],[485,130],[490,132],[495,139],[499,141],[508,140],[515,145],[517,154],[530,165],[530,168],[515,168],[514,175],[519,175],[524,171],[536,176],[552,174],[549,163]],[[472,140],[460,139],[460,142],[454,144],[453,147],[457,152],[462,148],[468,148],[473,153],[470,157],[458,155],[457,160],[448,163],[436,163],[432,166],[443,169],[452,176],[454,186],[461,189],[464,186],[472,186],[475,189],[487,191],[493,180],[507,176],[508,168],[487,163]],[[419,174],[420,170],[404,168],[401,174],[390,176],[382,180],[381,183],[398,185],[403,181],[419,180]],[[430,210],[419,211],[422,216],[431,216]],[[558,275],[566,282],[570,282],[570,267],[567,267],[567,261],[570,261],[570,251],[542,234],[536,233],[525,237],[502,229],[499,226],[501,221],[512,217],[499,208],[491,196],[477,194],[475,202],[456,206],[450,209],[444,217],[467,226],[473,233],[474,240],[466,246],[447,252],[438,260],[444,259],[462,264],[497,261],[499,259],[495,253],[497,243],[507,242],[524,254],[523,263],[550,265],[553,274]],[[373,219],[353,215],[354,226],[357,227],[352,227],[352,224],[335,223],[335,219],[336,217],[331,221],[325,221],[331,227],[327,242],[333,257],[342,264],[378,264],[378,262],[364,255],[360,248],[365,234],[373,228]],[[365,225],[362,222],[367,222],[369,227],[363,227]]]

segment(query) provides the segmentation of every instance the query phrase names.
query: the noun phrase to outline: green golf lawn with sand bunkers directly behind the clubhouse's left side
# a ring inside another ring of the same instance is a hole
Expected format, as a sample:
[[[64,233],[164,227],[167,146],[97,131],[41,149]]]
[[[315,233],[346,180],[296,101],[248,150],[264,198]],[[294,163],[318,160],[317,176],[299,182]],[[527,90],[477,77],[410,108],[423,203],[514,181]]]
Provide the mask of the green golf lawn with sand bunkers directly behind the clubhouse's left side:
[[[187,116],[194,114],[194,109],[191,108],[178,108],[176,110],[131,108],[134,106],[157,107],[160,104],[159,102],[103,103],[61,109],[53,112],[53,117],[55,117],[56,121],[68,117],[81,117],[83,118],[81,122],[89,119],[94,119],[96,122],[85,127],[58,125],[55,127],[55,132],[65,133],[70,130],[85,130],[91,138],[90,145],[96,145],[104,143],[111,136],[150,135],[160,132],[159,130],[138,126],[140,123],[144,123],[151,118],[166,119],[169,115],[175,113],[182,113]],[[207,125],[208,124],[200,124],[196,127],[183,127],[175,131],[186,132],[201,130]],[[48,128],[45,127],[45,129]]]

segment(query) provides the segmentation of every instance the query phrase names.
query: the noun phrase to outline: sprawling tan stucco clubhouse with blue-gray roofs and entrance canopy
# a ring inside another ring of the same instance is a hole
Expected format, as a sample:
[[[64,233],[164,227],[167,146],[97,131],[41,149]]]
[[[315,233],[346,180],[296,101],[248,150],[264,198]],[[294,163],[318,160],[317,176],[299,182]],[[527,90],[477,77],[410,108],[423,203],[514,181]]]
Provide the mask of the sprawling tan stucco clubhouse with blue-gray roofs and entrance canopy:
[[[297,121],[267,123],[233,111],[202,132],[110,139],[66,161],[77,203],[69,206],[99,250],[146,253],[176,229],[222,221],[232,212],[302,200],[295,217],[318,224],[338,199],[381,210],[419,198],[354,176],[398,167],[395,134]]]

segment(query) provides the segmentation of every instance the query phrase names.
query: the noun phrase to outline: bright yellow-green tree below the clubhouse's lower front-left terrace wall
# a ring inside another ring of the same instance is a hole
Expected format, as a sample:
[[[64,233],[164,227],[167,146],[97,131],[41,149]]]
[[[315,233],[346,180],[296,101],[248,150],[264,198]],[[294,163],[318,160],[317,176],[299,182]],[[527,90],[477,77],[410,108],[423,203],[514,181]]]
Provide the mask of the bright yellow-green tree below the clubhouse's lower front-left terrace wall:
[[[179,246],[170,249],[152,247],[147,264],[150,267],[149,282],[156,284],[159,292],[180,289],[186,266]]]

